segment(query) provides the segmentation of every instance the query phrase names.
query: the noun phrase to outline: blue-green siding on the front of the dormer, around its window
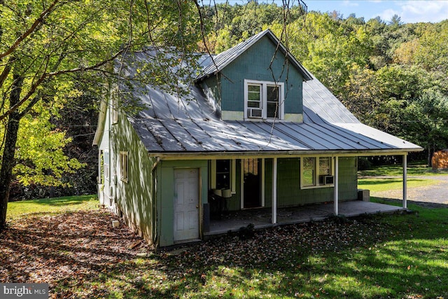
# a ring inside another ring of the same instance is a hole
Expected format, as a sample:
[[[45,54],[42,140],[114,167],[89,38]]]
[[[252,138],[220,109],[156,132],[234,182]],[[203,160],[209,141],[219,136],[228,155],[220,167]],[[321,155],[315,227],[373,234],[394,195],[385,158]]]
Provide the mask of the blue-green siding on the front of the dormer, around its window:
[[[285,82],[285,113],[302,113],[303,78],[294,67],[286,67],[285,61],[286,57],[276,52],[274,43],[267,37],[242,53],[221,71],[222,110],[244,111],[244,79],[250,79]]]

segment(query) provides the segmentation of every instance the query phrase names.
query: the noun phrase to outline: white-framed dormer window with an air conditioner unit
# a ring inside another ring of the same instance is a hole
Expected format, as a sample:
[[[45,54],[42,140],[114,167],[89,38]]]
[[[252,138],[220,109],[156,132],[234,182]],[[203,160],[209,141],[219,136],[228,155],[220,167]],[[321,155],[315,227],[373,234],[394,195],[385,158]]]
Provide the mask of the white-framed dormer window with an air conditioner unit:
[[[283,83],[244,80],[244,118],[284,118]]]

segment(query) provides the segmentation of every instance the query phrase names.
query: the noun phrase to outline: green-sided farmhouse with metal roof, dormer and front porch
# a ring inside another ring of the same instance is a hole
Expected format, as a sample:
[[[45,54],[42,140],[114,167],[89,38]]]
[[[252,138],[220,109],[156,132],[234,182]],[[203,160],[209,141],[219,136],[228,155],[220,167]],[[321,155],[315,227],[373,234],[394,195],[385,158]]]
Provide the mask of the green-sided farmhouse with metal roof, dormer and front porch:
[[[307,204],[338,214],[358,198],[359,156],[421,151],[360,123],[269,29],[200,63],[188,96],[146,85],[138,116],[113,93],[99,115],[100,201],[156,246],[210,235],[223,211],[267,210],[266,225]]]

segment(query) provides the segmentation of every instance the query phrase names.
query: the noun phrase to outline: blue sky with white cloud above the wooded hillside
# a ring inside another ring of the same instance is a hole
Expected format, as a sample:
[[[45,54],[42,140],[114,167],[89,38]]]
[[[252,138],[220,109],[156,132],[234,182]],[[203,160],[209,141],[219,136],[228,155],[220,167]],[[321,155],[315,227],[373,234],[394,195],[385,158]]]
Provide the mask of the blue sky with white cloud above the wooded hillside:
[[[202,0],[204,4],[210,0]],[[215,0],[216,3],[225,0]],[[228,0],[230,4],[244,4],[248,0]],[[258,0],[258,2],[281,5],[283,1],[297,4],[298,0]],[[398,15],[401,22],[440,22],[448,19],[448,0],[303,0],[308,11],[321,11],[322,13],[337,11],[344,18],[354,13],[357,18],[363,17],[365,21],[379,16],[381,20],[390,21],[393,15]]]

